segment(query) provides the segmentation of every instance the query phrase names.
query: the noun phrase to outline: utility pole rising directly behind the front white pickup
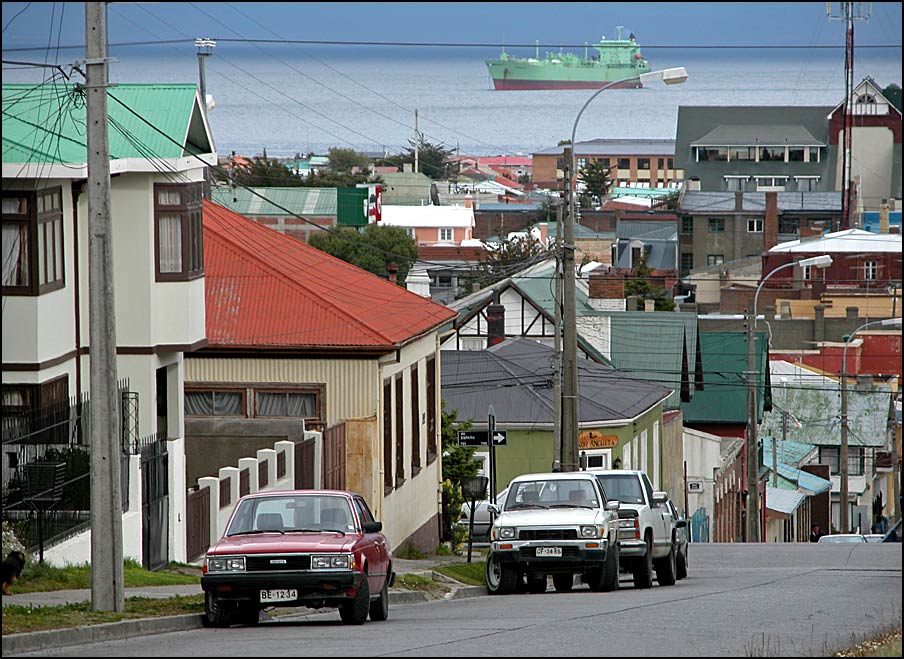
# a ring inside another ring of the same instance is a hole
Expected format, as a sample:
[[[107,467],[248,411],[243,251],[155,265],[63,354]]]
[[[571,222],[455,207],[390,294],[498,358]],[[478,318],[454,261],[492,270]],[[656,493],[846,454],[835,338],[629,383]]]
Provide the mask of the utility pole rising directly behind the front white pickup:
[[[578,470],[578,371],[577,371],[577,312],[574,281],[574,223],[577,204],[575,203],[574,181],[572,180],[572,149],[565,147],[565,181],[568,194],[568,216],[565,221],[565,235],[562,245],[562,296],[564,309],[562,346],[562,471]]]

